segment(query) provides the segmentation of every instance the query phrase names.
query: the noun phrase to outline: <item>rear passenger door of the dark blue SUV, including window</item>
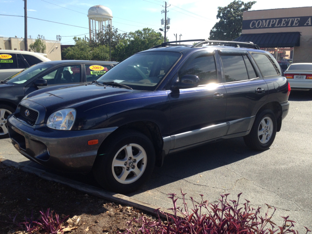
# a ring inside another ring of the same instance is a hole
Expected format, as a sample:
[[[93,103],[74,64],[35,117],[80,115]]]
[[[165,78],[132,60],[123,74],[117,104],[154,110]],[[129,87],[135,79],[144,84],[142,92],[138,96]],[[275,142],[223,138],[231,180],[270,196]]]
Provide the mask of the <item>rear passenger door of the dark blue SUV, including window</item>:
[[[218,56],[227,93],[227,135],[246,132],[252,126],[256,111],[268,98],[268,85],[247,52],[219,50]]]

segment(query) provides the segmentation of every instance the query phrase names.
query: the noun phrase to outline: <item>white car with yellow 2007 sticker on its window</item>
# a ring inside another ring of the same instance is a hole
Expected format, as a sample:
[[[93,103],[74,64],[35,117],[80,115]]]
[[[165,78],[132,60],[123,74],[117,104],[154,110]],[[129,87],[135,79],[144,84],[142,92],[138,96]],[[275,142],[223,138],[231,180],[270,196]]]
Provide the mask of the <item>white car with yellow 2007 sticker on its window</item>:
[[[22,50],[0,50],[0,80],[39,62],[51,61],[45,54]]]

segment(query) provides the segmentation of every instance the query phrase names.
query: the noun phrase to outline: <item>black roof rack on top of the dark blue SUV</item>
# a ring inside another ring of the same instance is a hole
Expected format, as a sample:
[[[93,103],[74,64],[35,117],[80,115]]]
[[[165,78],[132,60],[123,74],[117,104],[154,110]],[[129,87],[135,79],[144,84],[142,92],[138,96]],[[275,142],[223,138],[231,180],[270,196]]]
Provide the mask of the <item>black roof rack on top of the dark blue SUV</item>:
[[[233,46],[234,45],[234,47],[253,48],[253,49],[257,49],[257,50],[260,49],[260,47],[258,45],[254,44],[251,41],[250,42],[239,42],[239,41],[209,40],[209,39],[168,41],[168,42],[163,42],[160,45],[156,45],[156,46],[152,47],[151,49],[159,48],[159,47],[166,47],[168,45],[170,45],[170,46],[181,46],[181,44],[174,44],[174,43],[177,43],[177,42],[190,42],[190,41],[199,41],[195,45],[191,45],[192,48],[202,47],[204,44],[207,44],[207,45],[224,45],[224,46]]]

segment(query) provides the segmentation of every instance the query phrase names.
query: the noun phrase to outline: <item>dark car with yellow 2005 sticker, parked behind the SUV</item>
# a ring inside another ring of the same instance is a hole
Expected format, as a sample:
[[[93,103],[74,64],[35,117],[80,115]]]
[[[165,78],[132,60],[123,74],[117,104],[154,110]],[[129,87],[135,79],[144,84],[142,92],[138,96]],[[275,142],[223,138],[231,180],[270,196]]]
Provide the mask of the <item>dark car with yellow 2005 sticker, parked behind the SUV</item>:
[[[96,80],[116,64],[117,62],[108,61],[48,61],[1,80],[0,138],[8,137],[6,119],[26,95],[41,88],[77,85]]]

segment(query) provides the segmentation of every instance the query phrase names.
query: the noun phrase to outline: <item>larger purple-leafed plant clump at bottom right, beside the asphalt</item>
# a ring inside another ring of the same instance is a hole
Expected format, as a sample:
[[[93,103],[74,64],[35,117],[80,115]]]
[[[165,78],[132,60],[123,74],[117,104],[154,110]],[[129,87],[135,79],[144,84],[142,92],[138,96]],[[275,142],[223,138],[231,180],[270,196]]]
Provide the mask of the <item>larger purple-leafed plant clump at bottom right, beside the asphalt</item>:
[[[272,215],[269,215],[270,209],[264,217],[260,216],[260,207],[254,209],[250,207],[250,201],[246,200],[243,205],[238,205],[239,197],[236,200],[228,200],[228,195],[221,195],[219,203],[212,204],[201,196],[201,201],[197,202],[191,198],[192,209],[189,209],[185,201],[185,195],[182,194],[183,207],[177,207],[176,194],[169,194],[174,207],[170,210],[174,215],[165,214],[157,211],[158,220],[154,221],[146,216],[132,219],[128,222],[129,229],[123,234],[298,234],[294,228],[294,221],[289,217],[284,219],[283,225],[277,227],[273,223]],[[159,213],[165,215],[166,220],[162,220]],[[134,225],[136,224],[136,225]],[[140,228],[136,228],[135,226]],[[308,228],[307,232],[311,232]]]

